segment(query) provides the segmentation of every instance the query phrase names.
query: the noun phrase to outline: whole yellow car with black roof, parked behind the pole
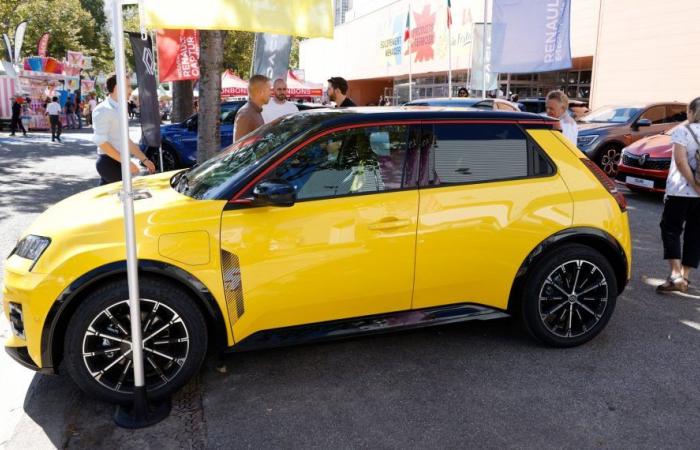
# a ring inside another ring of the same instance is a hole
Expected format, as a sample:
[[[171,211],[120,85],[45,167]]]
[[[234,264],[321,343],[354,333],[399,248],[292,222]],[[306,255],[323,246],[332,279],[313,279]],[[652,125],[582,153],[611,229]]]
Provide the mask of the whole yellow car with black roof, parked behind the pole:
[[[539,341],[601,332],[630,277],[624,198],[528,113],[283,117],[200,166],[134,183],[146,384],[207,351],[506,316]],[[54,205],[5,264],[7,351],[88,393],[133,390],[119,184]]]

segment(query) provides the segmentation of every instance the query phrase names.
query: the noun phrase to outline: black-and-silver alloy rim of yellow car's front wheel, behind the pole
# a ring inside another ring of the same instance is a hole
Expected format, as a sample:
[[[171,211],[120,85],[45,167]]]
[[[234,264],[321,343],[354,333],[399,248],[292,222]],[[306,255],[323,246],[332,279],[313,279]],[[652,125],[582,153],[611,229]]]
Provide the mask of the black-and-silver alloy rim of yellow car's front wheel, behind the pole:
[[[144,374],[148,390],[170,382],[187,360],[189,332],[182,318],[167,305],[141,299]],[[100,311],[82,341],[83,362],[102,386],[133,392],[129,302],[123,300]]]

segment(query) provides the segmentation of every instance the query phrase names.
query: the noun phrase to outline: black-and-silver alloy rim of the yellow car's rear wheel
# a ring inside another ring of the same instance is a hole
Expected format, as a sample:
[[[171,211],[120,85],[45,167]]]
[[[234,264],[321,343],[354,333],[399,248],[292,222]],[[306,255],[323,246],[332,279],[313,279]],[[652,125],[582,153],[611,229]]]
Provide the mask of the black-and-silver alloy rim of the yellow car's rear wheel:
[[[608,283],[590,261],[571,260],[555,268],[539,294],[539,314],[547,330],[575,338],[594,328],[608,305]]]

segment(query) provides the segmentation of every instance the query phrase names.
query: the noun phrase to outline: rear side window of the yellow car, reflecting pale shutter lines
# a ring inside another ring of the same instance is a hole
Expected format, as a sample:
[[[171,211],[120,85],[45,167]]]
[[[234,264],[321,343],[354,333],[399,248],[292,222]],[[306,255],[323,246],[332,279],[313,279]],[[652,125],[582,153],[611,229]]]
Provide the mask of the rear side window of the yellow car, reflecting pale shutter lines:
[[[424,127],[433,140],[428,184],[453,185],[547,176],[548,158],[514,124],[435,124]]]

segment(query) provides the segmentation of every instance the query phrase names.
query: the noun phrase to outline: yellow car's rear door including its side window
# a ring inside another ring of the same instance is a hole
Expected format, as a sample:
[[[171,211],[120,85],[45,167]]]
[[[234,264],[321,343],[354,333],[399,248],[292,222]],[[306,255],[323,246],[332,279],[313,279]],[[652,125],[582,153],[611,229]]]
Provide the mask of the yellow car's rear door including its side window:
[[[421,142],[413,307],[505,309],[527,255],[572,223],[566,185],[516,124],[427,124]]]

